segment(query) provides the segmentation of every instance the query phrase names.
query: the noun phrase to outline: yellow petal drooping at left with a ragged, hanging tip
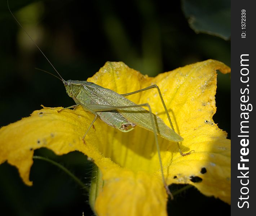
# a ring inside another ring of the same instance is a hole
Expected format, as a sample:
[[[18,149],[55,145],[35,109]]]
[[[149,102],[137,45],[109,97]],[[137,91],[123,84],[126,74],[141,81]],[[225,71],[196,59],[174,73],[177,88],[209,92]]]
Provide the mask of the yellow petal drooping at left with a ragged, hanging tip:
[[[89,125],[88,116],[91,114],[81,108],[58,113],[61,108],[34,111],[30,117],[0,129],[0,163],[7,160],[16,166],[27,185],[32,185],[29,172],[35,149],[46,147],[59,155],[74,150],[85,151],[81,137]]]

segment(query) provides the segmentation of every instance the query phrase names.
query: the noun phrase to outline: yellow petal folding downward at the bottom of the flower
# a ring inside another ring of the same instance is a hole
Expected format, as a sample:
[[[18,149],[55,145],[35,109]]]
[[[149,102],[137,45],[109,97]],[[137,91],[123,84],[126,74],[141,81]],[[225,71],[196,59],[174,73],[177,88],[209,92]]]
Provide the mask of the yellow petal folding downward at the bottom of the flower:
[[[125,168],[114,172],[116,178],[105,176],[103,191],[96,200],[98,215],[167,215],[167,195],[159,177]]]

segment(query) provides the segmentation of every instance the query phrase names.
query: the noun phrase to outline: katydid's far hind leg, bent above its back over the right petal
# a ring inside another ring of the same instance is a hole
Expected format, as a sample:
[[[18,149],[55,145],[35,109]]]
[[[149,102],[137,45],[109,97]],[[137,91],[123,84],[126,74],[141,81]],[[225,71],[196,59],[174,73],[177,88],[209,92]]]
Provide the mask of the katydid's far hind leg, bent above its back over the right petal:
[[[159,94],[159,96],[160,96],[160,99],[161,99],[161,101],[162,101],[162,104],[163,104],[165,113],[167,114],[167,118],[168,118],[169,123],[170,123],[170,125],[171,125],[171,128],[172,128],[173,131],[175,131],[175,130],[174,130],[174,127],[173,127],[173,124],[172,124],[171,117],[170,117],[170,115],[169,115],[169,113],[168,113],[168,110],[167,110],[167,107],[166,107],[166,105],[165,105],[165,103],[164,103],[164,99],[163,99],[162,93],[161,93],[159,87],[158,87],[156,84],[155,84],[155,85],[151,85],[151,86],[149,86],[149,87],[146,87],[146,88],[144,88],[144,89],[140,89],[140,90],[137,90],[137,91],[133,91],[133,92],[126,93],[126,94],[121,94],[121,95],[122,95],[122,96],[128,96],[128,95],[137,94],[137,93],[139,93],[139,92],[146,91],[146,90],[149,90],[149,89],[157,89],[158,94]],[[178,148],[178,151],[180,152],[181,156],[189,155],[192,151],[194,151],[194,150],[191,150],[190,152],[183,153],[182,150],[181,150],[181,148],[180,148],[180,144],[179,144],[178,142],[177,142],[176,144],[177,144],[177,148]]]

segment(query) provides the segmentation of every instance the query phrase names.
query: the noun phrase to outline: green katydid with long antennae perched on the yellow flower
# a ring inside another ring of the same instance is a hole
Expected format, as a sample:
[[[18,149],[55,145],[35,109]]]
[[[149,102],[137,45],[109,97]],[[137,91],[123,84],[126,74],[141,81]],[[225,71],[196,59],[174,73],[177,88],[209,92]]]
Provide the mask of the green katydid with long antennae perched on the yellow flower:
[[[8,1],[7,1],[8,3]],[[182,153],[179,143],[183,140],[183,138],[178,135],[172,125],[171,118],[169,116],[169,113],[167,111],[167,108],[165,106],[161,91],[157,85],[152,85],[149,87],[146,87],[144,89],[140,89],[137,91],[133,91],[131,93],[127,94],[118,94],[115,91],[112,91],[110,89],[106,89],[102,86],[99,86],[97,84],[94,84],[93,82],[87,82],[87,81],[73,81],[68,80],[65,81],[61,75],[58,73],[56,68],[52,65],[52,63],[49,61],[49,59],[45,56],[43,51],[37,46],[37,44],[34,42],[32,37],[27,33],[27,31],[22,27],[22,25],[18,22],[16,17],[13,15],[12,11],[9,8],[8,3],[8,9],[16,22],[21,26],[21,28],[26,32],[28,37],[32,40],[32,42],[35,44],[35,46],[39,49],[39,51],[44,55],[44,57],[47,59],[49,64],[53,67],[53,69],[57,72],[58,76],[55,75],[58,79],[60,79],[65,88],[67,94],[74,99],[76,105],[66,107],[63,109],[68,108],[76,108],[78,105],[81,105],[85,111],[89,111],[95,115],[94,119],[92,120],[91,124],[89,125],[87,131],[85,132],[82,140],[84,141],[85,136],[87,135],[88,131],[93,126],[93,123],[96,121],[97,118],[100,118],[103,122],[107,123],[109,126],[115,127],[116,129],[122,131],[122,132],[129,132],[134,129],[134,127],[139,126],[146,130],[154,132],[155,137],[155,143],[156,148],[158,152],[158,158],[160,163],[160,170],[162,174],[163,184],[166,189],[167,194],[171,196],[173,199],[173,196],[171,192],[168,189],[168,185],[166,184],[164,174],[163,174],[163,165],[162,165],[162,159],[160,155],[160,148],[158,143],[158,137],[157,135],[162,136],[163,138],[169,140],[169,141],[175,141],[177,143],[178,150],[181,154],[181,156],[186,156],[190,154],[188,153]],[[41,70],[43,71],[43,70]],[[46,71],[45,71],[46,72]],[[47,72],[49,73],[49,72]],[[50,73],[51,74],[51,73]],[[136,94],[142,91],[146,91],[149,89],[157,89],[158,94],[160,96],[160,99],[162,101],[165,113],[167,114],[169,123],[171,128],[169,128],[167,125],[165,125],[164,121],[152,113],[151,107],[148,103],[145,104],[135,104],[131,100],[128,100],[125,98],[125,96]],[[149,110],[144,109],[143,107],[147,107]],[[63,109],[61,109],[58,112],[61,112]]]

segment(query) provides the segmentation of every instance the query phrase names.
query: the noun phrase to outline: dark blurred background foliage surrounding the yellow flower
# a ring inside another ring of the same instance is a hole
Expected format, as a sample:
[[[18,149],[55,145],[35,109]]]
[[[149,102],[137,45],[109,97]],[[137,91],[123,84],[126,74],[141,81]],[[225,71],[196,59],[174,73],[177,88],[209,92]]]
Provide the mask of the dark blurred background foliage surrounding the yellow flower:
[[[204,1],[189,2],[190,6],[186,7],[192,10]],[[9,4],[66,80],[86,80],[106,61],[123,61],[149,76],[209,58],[230,66],[230,40],[195,33],[180,1],[10,0]],[[212,9],[216,8],[215,15],[223,7],[213,0],[208,4],[213,6],[204,10],[211,9],[211,14],[215,14]],[[59,80],[35,70],[37,67],[54,73],[10,15],[7,2],[1,1],[0,12],[0,126],[29,116],[41,108],[40,104],[73,105]],[[229,75],[218,77],[216,106],[213,118],[230,137]],[[77,152],[57,157],[40,149],[36,154],[61,162],[84,182],[91,175],[87,158]],[[82,211],[92,215],[88,213],[87,195],[47,162],[35,161],[30,176],[34,181],[32,187],[23,185],[17,170],[7,163],[0,166],[0,175],[0,203],[1,210],[7,211],[5,215],[81,215]],[[213,213],[230,211],[227,204],[213,202],[213,198],[206,198],[197,190],[188,190],[177,201],[170,202],[168,207],[176,215],[193,212],[201,215],[206,211],[196,210],[207,208]],[[184,202],[190,202],[191,208],[185,211]]]

